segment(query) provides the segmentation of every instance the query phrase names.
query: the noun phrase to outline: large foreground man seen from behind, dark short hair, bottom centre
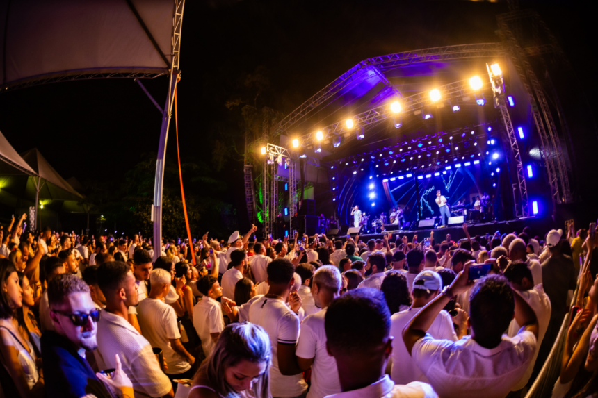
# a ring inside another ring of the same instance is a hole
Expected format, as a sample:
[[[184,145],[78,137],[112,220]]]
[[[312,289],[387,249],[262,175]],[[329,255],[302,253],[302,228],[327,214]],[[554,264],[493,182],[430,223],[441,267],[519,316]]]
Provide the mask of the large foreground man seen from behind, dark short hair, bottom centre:
[[[385,374],[393,343],[390,325],[380,290],[354,289],[332,301],[324,319],[326,351],[337,363],[342,392],[328,397],[438,397],[426,383],[395,385]]]

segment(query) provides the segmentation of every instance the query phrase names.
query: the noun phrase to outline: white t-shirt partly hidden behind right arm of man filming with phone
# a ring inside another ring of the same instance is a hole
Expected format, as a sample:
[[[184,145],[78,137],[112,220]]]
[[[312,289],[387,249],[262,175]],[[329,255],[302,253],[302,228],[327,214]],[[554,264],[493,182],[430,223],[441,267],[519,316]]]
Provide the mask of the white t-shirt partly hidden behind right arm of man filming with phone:
[[[519,383],[512,388],[513,391],[521,390],[525,387],[529,378],[531,377],[531,373],[533,372],[533,365],[535,364],[535,359],[538,358],[538,351],[540,350],[540,345],[542,345],[542,340],[544,339],[544,335],[546,334],[546,330],[548,329],[548,323],[550,322],[550,313],[551,313],[551,305],[550,299],[544,292],[544,288],[542,285],[535,285],[535,287],[531,290],[527,290],[526,292],[519,292],[522,297],[527,301],[527,304],[531,306],[535,316],[538,318],[538,344],[536,344],[535,352],[531,359],[531,362],[522,376],[522,379],[519,380]],[[517,332],[519,332],[521,326],[517,324],[515,318],[512,319],[511,323],[509,324],[509,329],[507,335],[509,337],[515,337]]]

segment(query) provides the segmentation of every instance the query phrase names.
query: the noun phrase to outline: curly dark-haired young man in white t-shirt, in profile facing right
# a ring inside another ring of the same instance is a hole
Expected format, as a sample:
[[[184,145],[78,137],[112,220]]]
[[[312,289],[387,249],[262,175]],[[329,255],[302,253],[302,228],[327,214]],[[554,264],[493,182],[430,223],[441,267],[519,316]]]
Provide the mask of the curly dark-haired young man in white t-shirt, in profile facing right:
[[[202,276],[197,288],[204,297],[193,307],[193,326],[202,340],[205,356],[209,356],[225,326],[222,307],[216,301],[222,297],[223,289],[218,279],[211,275]]]

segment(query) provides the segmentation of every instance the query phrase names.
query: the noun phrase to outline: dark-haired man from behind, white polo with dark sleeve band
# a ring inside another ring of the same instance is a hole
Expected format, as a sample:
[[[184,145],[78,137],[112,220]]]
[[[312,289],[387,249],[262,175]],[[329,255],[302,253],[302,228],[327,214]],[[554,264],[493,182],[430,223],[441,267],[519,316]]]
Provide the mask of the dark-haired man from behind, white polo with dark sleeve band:
[[[289,363],[295,356],[295,345],[299,337],[299,311],[301,299],[291,288],[295,284],[295,266],[285,258],[277,258],[268,265],[268,294],[260,297],[249,309],[252,323],[263,327],[272,345],[272,366],[270,367],[270,391],[274,398],[301,397],[307,390],[307,383],[301,374],[284,376],[279,364]],[[291,301],[291,308],[286,300]],[[298,304],[298,305],[297,305]]]

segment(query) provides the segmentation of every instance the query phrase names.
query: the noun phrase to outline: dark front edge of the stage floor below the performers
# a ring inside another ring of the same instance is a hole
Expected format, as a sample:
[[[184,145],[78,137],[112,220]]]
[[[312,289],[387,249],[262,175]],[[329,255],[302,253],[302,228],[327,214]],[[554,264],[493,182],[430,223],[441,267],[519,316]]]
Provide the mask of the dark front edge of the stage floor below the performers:
[[[544,240],[544,234],[551,229],[558,229],[552,219],[552,217],[527,217],[526,219],[515,219],[510,221],[499,221],[499,222],[486,222],[478,224],[467,224],[469,235],[473,238],[476,235],[485,235],[489,233],[494,235],[496,231],[500,233],[521,233],[524,227],[529,226],[532,234],[538,235],[541,240]],[[563,226],[560,226],[563,228]],[[411,242],[413,235],[417,235],[417,240],[423,242],[423,238],[429,238],[430,232],[434,231],[434,238],[437,243],[442,242],[446,238],[446,234],[451,234],[451,240],[458,241],[465,237],[463,232],[463,224],[455,224],[444,228],[436,229],[416,229],[412,231],[399,230],[399,231],[384,231],[382,233],[364,233],[359,235],[359,240],[366,242],[370,239],[382,239],[385,235],[392,235],[391,240],[396,240],[397,236],[403,238],[407,236],[407,239]],[[345,235],[339,235],[344,238]],[[355,234],[351,234],[352,238],[355,238]],[[533,237],[531,237],[533,238]]]

